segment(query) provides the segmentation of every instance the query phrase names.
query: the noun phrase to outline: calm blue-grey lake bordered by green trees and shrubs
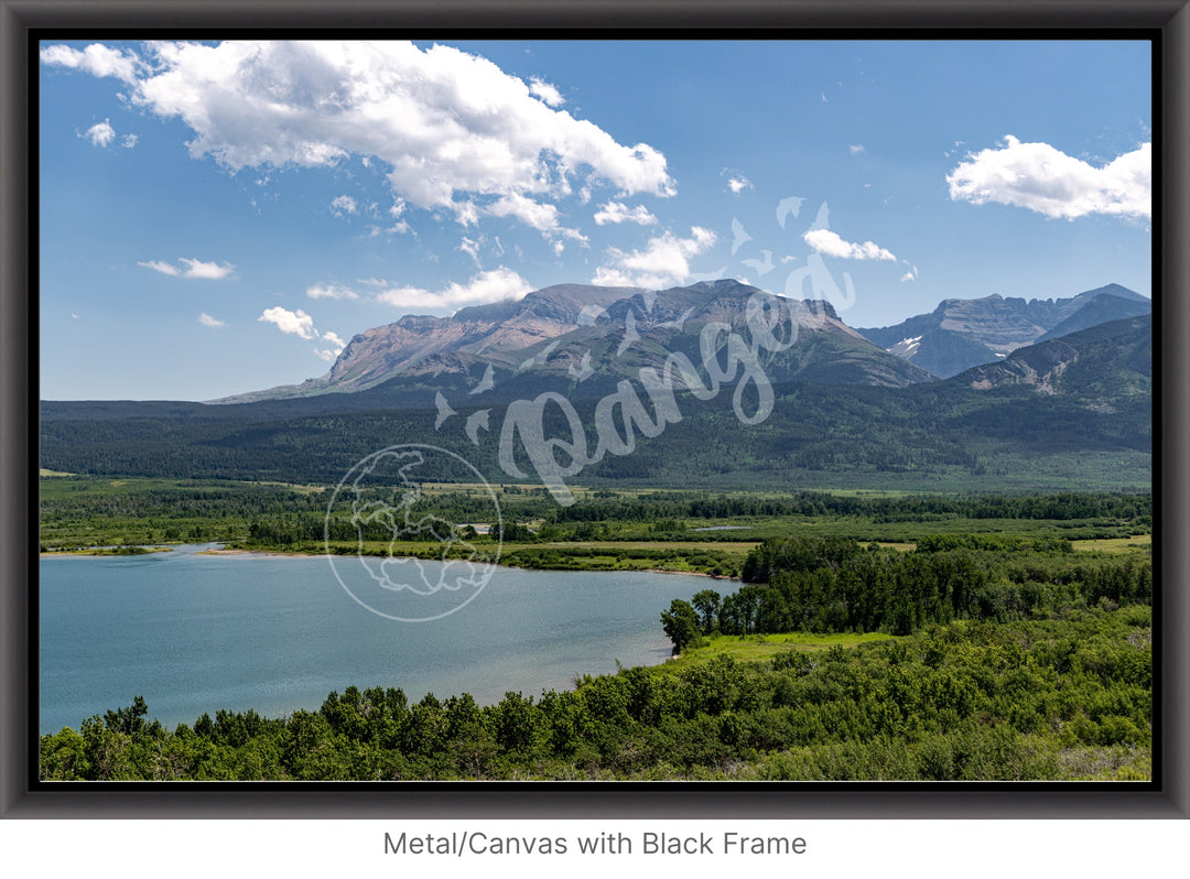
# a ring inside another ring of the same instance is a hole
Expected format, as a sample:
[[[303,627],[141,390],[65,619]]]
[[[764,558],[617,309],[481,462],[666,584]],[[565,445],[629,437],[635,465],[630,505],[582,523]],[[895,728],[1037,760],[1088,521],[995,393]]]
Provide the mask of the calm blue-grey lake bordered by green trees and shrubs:
[[[411,702],[540,696],[618,660],[664,661],[660,611],[715,588],[688,575],[497,567],[456,613],[395,622],[352,598],[326,558],[201,548],[42,559],[42,733],[134,696],[170,728],[221,708],[317,709],[352,684],[401,687]]]

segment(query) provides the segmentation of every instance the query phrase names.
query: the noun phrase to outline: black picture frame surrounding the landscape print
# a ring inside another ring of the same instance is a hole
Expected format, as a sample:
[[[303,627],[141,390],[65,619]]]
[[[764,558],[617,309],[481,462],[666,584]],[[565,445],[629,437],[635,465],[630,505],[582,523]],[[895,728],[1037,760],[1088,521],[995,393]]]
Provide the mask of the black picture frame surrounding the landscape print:
[[[223,37],[231,31],[377,27],[409,36],[664,38],[779,37],[796,30],[850,37],[946,38],[1150,33],[1154,57],[1153,293],[1160,414],[1154,433],[1154,724],[1152,784],[984,784],[906,786],[537,783],[337,785],[286,783],[65,784],[36,781],[29,721],[36,657],[30,653],[30,586],[37,565],[36,263],[30,83],[43,38]],[[858,29],[858,30],[857,30]],[[0,0],[0,817],[395,817],[541,818],[938,818],[1190,817],[1190,492],[1186,484],[1190,379],[1185,339],[1190,289],[1190,0]],[[1159,301],[1158,301],[1159,300]],[[1157,306],[1159,304],[1159,308]],[[1158,673],[1159,672],[1159,673]],[[691,796],[694,793],[695,796]]]

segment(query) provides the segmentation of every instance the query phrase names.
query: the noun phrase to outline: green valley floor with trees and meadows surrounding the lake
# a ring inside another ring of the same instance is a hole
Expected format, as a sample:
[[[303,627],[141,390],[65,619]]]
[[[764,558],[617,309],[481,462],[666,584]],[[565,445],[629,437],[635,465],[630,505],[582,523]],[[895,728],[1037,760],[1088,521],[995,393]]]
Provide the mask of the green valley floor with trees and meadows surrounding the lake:
[[[325,530],[350,525],[333,510],[328,525],[325,496],[308,488],[109,483],[43,479],[43,550],[189,540],[313,554]],[[681,653],[487,707],[466,693],[411,704],[344,682],[318,710],[265,718],[213,705],[169,730],[136,702],[43,736],[42,777],[1151,777],[1147,495],[605,491],[559,510],[501,491],[501,564],[709,575],[694,607],[662,614]],[[437,510],[482,522],[474,502],[443,489]],[[333,552],[443,552],[340,535]],[[466,541],[495,548],[491,535]]]

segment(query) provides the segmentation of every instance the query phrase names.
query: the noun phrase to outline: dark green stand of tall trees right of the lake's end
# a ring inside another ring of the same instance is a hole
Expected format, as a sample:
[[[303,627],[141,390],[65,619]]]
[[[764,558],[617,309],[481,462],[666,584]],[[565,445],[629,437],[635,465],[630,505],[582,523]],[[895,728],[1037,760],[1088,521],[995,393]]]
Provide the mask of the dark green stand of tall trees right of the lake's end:
[[[675,599],[662,628],[675,652],[710,634],[888,632],[952,620],[1006,622],[1071,602],[1148,603],[1147,558],[1077,558],[1066,541],[937,535],[912,552],[843,538],[766,540],[744,561],[745,585]]]

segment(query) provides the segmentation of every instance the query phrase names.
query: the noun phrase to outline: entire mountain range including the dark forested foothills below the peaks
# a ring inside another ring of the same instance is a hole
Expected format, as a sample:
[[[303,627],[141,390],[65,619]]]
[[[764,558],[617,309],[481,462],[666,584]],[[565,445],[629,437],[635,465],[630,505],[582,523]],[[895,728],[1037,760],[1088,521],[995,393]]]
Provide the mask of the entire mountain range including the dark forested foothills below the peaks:
[[[462,456],[489,478],[526,482],[516,471],[536,476],[527,446],[514,450],[512,469],[505,446],[533,426],[524,417],[531,412],[545,438],[563,442],[576,426],[585,432],[590,457],[574,481],[590,484],[1144,489],[1152,318],[1096,322],[1119,309],[1148,310],[1147,300],[1121,290],[1040,302],[948,300],[910,321],[947,324],[940,332],[972,349],[1032,339],[939,378],[846,326],[827,302],[735,281],[662,291],[546,288],[361,333],[326,376],[249,398],[43,401],[40,466],[334,484],[380,448],[419,442]],[[1053,338],[1081,322],[1094,325]],[[664,375],[669,385],[657,381]],[[645,408],[633,417],[652,419],[666,393],[668,423],[638,431],[628,451],[594,452],[619,445],[608,431],[627,429],[637,401]],[[752,419],[762,406],[764,417]],[[544,447],[571,447],[553,442]]]

